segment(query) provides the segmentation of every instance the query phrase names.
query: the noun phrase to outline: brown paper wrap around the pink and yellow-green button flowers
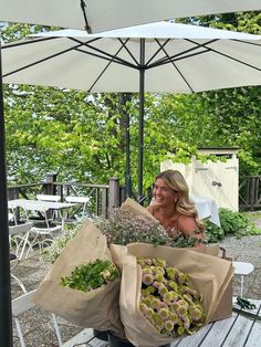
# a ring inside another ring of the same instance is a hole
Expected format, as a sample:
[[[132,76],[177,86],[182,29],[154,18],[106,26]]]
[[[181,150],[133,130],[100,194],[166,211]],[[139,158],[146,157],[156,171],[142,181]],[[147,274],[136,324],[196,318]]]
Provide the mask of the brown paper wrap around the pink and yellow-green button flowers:
[[[117,248],[114,248],[115,252]],[[142,267],[137,257],[164,259],[169,266],[188,274],[191,287],[202,297],[203,324],[209,322],[233,275],[231,263],[216,256],[187,249],[140,243],[128,245],[123,262],[119,307],[126,337],[138,347],[160,346],[170,343],[174,337],[160,334],[140,311]]]

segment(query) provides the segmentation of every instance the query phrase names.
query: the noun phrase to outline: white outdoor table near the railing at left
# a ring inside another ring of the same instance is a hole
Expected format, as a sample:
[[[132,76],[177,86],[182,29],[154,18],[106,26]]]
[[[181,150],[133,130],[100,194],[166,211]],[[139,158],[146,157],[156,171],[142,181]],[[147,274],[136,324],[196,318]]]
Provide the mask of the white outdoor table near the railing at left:
[[[14,199],[8,201],[8,208],[14,214],[17,208],[22,208],[25,213],[29,211],[36,212],[46,212],[46,211],[59,211],[62,219],[62,229],[64,228],[66,211],[72,207],[75,207],[76,203],[70,202],[56,202],[56,201],[42,201],[42,200],[28,200],[28,199]]]

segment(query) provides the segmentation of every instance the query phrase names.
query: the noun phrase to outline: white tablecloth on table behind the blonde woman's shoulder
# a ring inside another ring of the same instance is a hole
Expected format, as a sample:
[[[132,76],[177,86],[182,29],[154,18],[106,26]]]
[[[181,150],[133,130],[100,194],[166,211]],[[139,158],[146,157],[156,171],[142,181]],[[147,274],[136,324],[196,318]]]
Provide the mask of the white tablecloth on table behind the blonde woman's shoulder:
[[[206,197],[190,196],[190,199],[195,202],[198,211],[199,219],[209,219],[212,223],[220,227],[220,219],[218,214],[217,203]]]

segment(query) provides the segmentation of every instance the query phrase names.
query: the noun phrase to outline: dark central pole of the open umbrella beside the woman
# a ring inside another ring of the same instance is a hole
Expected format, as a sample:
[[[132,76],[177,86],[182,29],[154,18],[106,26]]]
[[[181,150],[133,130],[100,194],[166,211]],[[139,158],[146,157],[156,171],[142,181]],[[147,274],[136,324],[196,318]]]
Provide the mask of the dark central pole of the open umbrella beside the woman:
[[[138,140],[138,202],[143,202],[143,155],[144,155],[144,93],[145,93],[145,39],[140,39],[139,65],[139,140]]]

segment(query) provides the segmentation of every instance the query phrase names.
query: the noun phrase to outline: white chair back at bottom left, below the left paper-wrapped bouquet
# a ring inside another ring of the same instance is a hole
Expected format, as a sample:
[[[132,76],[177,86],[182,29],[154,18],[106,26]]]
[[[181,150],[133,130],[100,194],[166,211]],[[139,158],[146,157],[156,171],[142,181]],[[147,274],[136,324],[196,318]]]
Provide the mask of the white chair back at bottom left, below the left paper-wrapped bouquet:
[[[12,299],[12,316],[13,316],[14,322],[15,322],[15,327],[18,330],[18,336],[20,339],[21,347],[27,347],[27,345],[24,341],[23,330],[22,330],[22,326],[21,326],[21,322],[20,322],[19,316],[25,312],[29,312],[31,308],[33,308],[35,306],[35,304],[32,302],[32,297],[33,297],[34,293],[35,293],[35,290]],[[61,346],[62,339],[61,339],[61,334],[59,330],[56,317],[53,314],[52,315],[50,314],[50,318],[51,318],[51,316],[52,316],[52,323],[53,323],[53,326],[55,329],[55,334],[58,337],[59,346]],[[34,319],[31,319],[31,320],[33,322]]]

